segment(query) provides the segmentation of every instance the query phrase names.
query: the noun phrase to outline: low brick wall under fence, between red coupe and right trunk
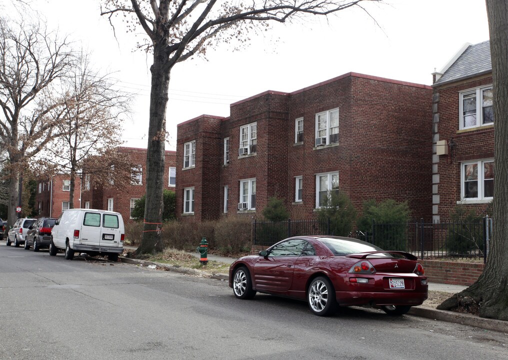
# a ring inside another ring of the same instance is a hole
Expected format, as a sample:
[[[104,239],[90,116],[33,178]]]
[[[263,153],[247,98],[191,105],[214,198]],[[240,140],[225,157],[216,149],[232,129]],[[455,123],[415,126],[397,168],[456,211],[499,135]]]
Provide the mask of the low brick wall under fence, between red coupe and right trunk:
[[[459,261],[422,260],[425,275],[431,282],[452,285],[471,285],[483,272],[483,263],[460,263]]]

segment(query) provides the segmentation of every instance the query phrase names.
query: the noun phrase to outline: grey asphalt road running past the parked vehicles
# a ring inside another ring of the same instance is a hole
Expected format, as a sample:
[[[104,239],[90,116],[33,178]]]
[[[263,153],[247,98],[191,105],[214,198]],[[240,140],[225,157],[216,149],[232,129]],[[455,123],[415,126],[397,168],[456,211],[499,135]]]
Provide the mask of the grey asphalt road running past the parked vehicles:
[[[375,309],[234,298],[224,281],[0,244],[0,359],[495,360],[508,335]]]

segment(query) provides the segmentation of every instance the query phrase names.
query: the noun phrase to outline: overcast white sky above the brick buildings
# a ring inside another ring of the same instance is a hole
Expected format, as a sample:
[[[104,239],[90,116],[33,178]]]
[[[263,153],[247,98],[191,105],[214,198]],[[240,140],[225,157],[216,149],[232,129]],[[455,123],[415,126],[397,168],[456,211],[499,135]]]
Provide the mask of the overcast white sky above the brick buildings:
[[[37,0],[32,6],[50,28],[89,50],[96,67],[114,72],[123,91],[138,94],[123,140],[146,148],[151,55],[134,51],[136,39],[120,21],[115,40],[100,3]],[[274,24],[264,36],[253,34],[246,49],[221,46],[207,60],[177,64],[166,149],[176,148],[176,124],[201,114],[229,116],[229,104],[266,90],[291,92],[348,72],[430,85],[434,68],[439,71],[464,43],[489,38],[485,0],[386,0],[366,8],[379,25],[361,10],[344,10],[328,20]]]

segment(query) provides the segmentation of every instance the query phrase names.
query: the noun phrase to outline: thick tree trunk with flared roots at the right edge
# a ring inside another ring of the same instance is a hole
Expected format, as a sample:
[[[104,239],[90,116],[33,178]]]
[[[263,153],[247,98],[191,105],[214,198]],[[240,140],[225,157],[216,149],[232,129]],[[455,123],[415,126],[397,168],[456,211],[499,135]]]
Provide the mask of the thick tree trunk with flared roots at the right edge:
[[[437,308],[451,310],[474,301],[479,315],[508,320],[508,3],[487,0],[494,108],[493,235],[485,269],[479,279]]]

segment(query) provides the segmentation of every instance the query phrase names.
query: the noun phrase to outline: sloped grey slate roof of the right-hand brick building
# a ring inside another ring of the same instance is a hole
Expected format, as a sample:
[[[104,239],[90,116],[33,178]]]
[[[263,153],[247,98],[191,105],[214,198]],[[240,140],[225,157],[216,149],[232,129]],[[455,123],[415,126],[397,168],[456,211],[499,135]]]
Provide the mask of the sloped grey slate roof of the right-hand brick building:
[[[448,83],[492,71],[490,41],[469,45],[434,85]]]

